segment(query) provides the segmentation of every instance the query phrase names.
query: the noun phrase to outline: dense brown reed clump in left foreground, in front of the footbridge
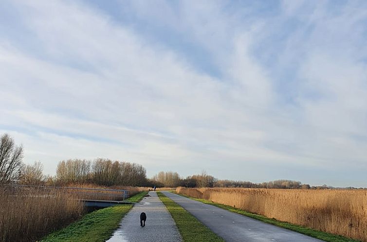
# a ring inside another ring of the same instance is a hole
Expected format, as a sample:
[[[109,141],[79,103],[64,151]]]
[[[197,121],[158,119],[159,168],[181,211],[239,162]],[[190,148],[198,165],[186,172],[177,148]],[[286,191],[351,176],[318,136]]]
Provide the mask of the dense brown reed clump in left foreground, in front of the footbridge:
[[[35,241],[83,213],[82,202],[70,194],[0,187],[0,241]]]

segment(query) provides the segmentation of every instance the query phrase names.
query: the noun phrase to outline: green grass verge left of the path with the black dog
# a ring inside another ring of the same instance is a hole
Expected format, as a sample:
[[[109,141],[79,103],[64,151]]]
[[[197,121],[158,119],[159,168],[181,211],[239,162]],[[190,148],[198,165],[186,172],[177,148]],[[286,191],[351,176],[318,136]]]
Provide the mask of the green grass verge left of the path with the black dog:
[[[139,202],[145,195],[147,191],[142,191],[126,201]],[[49,234],[42,242],[105,242],[132,207],[133,205],[124,204],[95,210],[71,225]]]

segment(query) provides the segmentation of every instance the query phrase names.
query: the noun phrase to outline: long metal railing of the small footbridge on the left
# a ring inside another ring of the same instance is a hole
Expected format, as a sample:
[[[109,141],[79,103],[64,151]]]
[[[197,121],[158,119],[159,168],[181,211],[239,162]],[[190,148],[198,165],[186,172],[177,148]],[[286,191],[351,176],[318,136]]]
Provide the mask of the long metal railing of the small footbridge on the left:
[[[3,189],[13,194],[28,192],[30,196],[52,196],[56,192],[73,195],[79,200],[92,201],[125,201],[129,194],[128,190],[99,189],[99,188],[77,188],[77,187],[49,187],[32,185],[0,185]]]

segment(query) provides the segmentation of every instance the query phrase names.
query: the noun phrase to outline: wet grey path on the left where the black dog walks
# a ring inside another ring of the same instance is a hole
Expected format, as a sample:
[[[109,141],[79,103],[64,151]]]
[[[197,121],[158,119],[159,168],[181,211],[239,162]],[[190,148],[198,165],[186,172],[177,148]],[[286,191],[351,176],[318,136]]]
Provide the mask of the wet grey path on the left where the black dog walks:
[[[181,242],[181,235],[171,214],[161,202],[157,193],[150,191],[136,204],[121,221],[108,242]],[[140,227],[140,213],[147,214],[144,228]]]

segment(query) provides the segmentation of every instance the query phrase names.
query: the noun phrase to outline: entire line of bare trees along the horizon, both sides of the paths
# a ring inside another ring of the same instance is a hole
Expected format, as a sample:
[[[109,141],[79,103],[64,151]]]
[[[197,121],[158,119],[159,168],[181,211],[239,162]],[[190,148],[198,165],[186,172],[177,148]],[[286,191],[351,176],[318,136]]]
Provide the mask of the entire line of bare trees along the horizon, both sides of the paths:
[[[252,183],[238,180],[219,180],[203,171],[185,178],[177,172],[159,172],[151,179],[146,169],[137,163],[97,158],[68,159],[57,164],[55,176],[44,175],[41,162],[24,164],[23,147],[16,145],[8,134],[0,137],[0,184],[63,186],[70,183],[92,183],[100,186],[142,186],[142,187],[222,187],[222,188],[274,188],[274,189],[328,189],[310,187],[293,180],[276,180]]]

